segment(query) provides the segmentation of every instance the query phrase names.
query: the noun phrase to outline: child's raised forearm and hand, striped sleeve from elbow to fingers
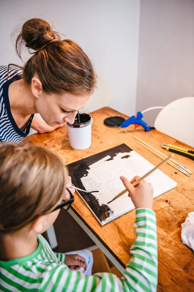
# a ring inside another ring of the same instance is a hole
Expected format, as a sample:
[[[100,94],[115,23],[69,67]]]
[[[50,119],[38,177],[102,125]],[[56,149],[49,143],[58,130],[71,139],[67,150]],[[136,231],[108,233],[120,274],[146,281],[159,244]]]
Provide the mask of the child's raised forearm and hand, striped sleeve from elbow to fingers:
[[[156,233],[156,214],[151,210],[153,205],[153,188],[143,181],[136,187],[132,186],[139,177],[130,183],[121,177],[129,196],[136,207],[135,233],[136,240],[130,249],[131,258],[127,265],[125,277],[137,287],[138,292],[156,291],[158,282],[158,251]]]

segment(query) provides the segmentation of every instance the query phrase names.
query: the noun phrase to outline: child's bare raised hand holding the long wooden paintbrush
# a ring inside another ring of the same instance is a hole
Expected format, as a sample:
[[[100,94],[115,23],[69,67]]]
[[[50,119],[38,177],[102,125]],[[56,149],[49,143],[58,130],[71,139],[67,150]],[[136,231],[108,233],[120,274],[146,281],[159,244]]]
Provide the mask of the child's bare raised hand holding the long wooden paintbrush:
[[[151,183],[146,181],[141,181],[136,186],[133,186],[132,183],[140,179],[139,176],[134,177],[130,183],[128,179],[124,176],[120,177],[121,181],[129,191],[129,197],[131,198],[135,208],[148,208],[152,209],[153,206],[153,187]]]

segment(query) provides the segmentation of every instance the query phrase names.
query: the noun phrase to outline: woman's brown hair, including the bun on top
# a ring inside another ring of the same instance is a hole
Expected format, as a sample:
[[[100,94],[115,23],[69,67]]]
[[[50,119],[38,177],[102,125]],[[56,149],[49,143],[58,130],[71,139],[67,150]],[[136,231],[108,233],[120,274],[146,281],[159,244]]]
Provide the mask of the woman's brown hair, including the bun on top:
[[[16,53],[20,58],[22,45],[33,54],[23,68],[27,84],[31,84],[37,73],[45,92],[93,93],[96,74],[90,59],[76,42],[61,40],[60,34],[51,30],[47,21],[27,20],[16,39]]]

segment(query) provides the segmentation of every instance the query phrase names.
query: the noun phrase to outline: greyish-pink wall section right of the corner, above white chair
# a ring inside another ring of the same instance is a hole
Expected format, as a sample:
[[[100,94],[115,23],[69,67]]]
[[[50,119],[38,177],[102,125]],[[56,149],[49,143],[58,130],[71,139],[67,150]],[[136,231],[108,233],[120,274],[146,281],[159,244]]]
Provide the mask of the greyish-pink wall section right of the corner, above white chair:
[[[194,96],[194,0],[142,0],[136,110],[186,96]],[[150,126],[158,112],[145,113]]]

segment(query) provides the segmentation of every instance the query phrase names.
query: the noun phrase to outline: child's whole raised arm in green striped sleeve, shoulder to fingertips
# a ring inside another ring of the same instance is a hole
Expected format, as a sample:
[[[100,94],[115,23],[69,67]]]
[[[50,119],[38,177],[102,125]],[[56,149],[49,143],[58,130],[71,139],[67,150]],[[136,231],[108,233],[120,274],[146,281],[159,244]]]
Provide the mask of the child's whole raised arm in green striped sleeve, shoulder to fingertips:
[[[134,180],[137,180],[136,177]],[[123,179],[136,206],[136,240],[130,249],[131,259],[126,266],[124,277],[114,274],[97,273],[86,276],[58,266],[50,271],[49,288],[53,291],[84,292],[156,292],[158,281],[156,218],[151,210],[153,189],[149,183],[141,182],[135,188]],[[133,183],[133,181],[131,181]],[[43,284],[43,283],[42,283]],[[44,283],[47,287],[47,284]],[[43,290],[44,291],[44,290]]]

